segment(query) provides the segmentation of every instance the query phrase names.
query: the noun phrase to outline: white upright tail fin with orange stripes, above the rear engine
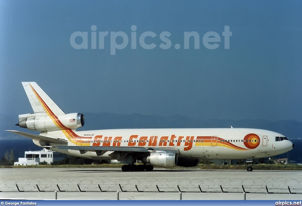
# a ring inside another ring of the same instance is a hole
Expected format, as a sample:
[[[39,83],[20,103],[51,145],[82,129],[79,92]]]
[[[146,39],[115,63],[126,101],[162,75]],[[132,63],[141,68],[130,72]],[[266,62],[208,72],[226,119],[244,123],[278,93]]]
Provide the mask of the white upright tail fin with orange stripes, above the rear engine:
[[[22,82],[34,113],[54,116],[65,114],[63,110],[39,87],[36,82]]]

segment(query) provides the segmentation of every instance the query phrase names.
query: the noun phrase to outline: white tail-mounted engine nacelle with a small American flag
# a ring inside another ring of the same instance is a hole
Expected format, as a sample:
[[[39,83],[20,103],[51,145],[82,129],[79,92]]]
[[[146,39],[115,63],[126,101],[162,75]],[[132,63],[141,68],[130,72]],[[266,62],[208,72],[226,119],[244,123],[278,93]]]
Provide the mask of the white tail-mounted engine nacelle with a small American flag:
[[[26,119],[19,116],[19,126],[40,132],[63,129],[76,129],[84,126],[85,118],[81,113],[70,113],[58,116],[30,116]],[[32,114],[33,115],[33,114]]]

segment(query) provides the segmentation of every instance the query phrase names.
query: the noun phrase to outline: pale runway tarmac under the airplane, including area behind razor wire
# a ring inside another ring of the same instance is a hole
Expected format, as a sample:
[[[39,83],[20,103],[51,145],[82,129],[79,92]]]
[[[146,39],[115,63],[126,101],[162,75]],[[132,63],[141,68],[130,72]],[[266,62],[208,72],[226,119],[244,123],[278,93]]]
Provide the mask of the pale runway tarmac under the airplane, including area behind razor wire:
[[[122,172],[120,168],[2,168],[0,191],[207,191],[302,193],[301,171],[171,170]],[[58,185],[58,186],[57,186]],[[220,187],[221,186],[221,187]],[[137,187],[137,188],[136,188]],[[157,188],[158,187],[158,188]],[[179,188],[178,188],[179,187]]]

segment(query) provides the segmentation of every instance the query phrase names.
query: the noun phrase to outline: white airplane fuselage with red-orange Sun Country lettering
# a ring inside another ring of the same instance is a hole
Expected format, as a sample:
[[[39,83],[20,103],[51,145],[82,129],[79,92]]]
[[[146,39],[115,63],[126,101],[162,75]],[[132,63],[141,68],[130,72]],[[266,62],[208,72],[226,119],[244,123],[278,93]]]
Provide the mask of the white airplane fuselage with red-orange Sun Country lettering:
[[[68,132],[55,131],[43,136],[68,140],[68,146],[144,147],[157,151],[177,149],[178,157],[192,159],[265,158],[290,151],[293,143],[283,135],[263,129],[106,129]],[[35,144],[40,146],[39,142]],[[55,146],[54,144],[50,144]],[[90,159],[112,159],[111,151],[97,155],[94,151],[52,148],[54,151]]]

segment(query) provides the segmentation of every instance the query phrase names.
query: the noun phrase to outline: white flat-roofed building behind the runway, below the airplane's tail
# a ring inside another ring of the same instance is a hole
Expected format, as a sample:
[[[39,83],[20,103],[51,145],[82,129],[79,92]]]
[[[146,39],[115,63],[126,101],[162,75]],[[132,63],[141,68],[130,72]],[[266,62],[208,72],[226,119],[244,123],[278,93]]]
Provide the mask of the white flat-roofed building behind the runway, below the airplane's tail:
[[[39,165],[44,161],[48,165],[53,162],[53,151],[48,149],[26,151],[24,158],[18,158],[18,162],[14,162],[14,165]]]

